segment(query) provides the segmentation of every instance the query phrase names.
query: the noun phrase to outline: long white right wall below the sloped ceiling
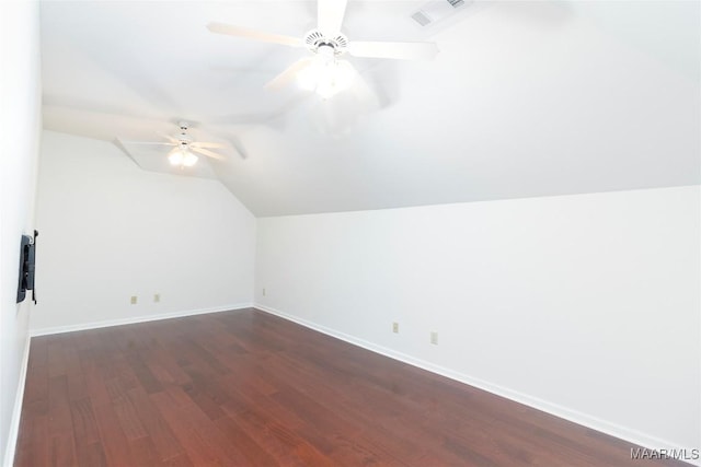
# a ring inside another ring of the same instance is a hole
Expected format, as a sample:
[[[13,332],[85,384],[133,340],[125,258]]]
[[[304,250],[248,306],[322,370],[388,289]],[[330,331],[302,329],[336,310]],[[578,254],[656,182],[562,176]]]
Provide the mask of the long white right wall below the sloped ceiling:
[[[698,448],[699,219],[698,186],[260,219],[255,299],[648,447]]]

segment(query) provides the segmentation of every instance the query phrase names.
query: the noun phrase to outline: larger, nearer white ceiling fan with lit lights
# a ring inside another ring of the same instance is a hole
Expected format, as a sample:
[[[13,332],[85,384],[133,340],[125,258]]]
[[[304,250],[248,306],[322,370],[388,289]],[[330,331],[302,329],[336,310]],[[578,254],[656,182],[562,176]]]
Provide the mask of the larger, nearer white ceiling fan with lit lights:
[[[346,4],[347,0],[319,0],[318,26],[301,38],[222,23],[209,23],[207,28],[217,34],[289,47],[307,47],[312,52],[311,57],[296,61],[265,86],[281,87],[297,78],[302,87],[314,90],[322,97],[330,97],[349,87],[358,77],[350,62],[337,59],[345,52],[354,57],[402,60],[430,60],[438,54],[438,47],[434,43],[348,40],[341,32]]]

